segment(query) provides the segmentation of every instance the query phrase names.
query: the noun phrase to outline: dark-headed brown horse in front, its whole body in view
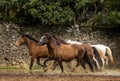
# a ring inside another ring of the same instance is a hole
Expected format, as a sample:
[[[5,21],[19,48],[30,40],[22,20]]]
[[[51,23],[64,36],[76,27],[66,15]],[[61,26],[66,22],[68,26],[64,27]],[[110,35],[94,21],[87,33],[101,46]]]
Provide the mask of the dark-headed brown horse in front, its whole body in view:
[[[60,68],[63,72],[63,65],[62,62],[68,62],[73,59],[77,60],[77,63],[79,65],[79,62],[81,59],[84,60],[84,62],[88,63],[90,66],[90,69],[94,71],[93,65],[91,63],[91,60],[89,56],[87,55],[87,51],[82,45],[78,44],[63,44],[56,40],[56,38],[53,35],[45,34],[41,37],[39,41],[39,45],[47,44],[49,57],[44,62],[44,65],[46,65],[46,62],[49,60],[56,60],[58,61]]]

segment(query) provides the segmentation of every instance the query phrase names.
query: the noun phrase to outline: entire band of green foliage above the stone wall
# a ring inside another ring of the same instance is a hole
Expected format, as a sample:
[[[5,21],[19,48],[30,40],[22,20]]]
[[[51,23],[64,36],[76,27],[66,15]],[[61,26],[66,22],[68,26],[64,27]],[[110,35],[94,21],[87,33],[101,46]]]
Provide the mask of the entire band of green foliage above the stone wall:
[[[17,24],[119,26],[119,0],[0,0],[0,20]]]

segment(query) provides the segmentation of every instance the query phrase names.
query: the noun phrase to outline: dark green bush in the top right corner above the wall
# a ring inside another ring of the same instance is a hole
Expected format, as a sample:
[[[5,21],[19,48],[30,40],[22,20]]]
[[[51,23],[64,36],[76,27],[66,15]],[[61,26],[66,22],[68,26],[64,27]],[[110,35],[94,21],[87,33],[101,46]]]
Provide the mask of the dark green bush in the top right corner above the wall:
[[[105,25],[109,27],[119,27],[120,25],[120,1],[106,0],[101,12],[93,17],[95,25]]]

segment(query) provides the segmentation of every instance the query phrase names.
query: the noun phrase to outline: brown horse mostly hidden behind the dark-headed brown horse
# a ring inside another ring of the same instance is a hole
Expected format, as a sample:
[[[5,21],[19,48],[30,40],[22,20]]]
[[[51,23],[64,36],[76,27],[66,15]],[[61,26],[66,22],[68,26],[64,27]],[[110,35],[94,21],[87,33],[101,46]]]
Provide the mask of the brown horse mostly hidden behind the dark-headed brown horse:
[[[56,40],[58,40],[60,43],[63,43],[63,44],[69,44],[67,42],[65,42],[62,38],[60,38],[59,36],[54,36]],[[75,44],[75,43],[74,43]],[[77,44],[77,43],[76,43]],[[79,44],[79,43],[78,43]],[[92,47],[91,45],[88,45],[88,44],[80,44],[82,45],[83,47],[86,48],[87,50],[87,53],[91,59],[91,61],[93,62],[96,70],[100,70],[100,66],[99,66],[99,63],[102,62],[102,60],[100,59],[100,55],[97,51],[96,48]],[[104,56],[102,56],[104,57]],[[96,60],[97,59],[97,60]],[[99,63],[98,63],[99,62]],[[80,60],[80,64],[82,65],[82,67],[85,69],[85,62],[83,60]],[[76,65],[76,66],[79,66],[79,65]]]

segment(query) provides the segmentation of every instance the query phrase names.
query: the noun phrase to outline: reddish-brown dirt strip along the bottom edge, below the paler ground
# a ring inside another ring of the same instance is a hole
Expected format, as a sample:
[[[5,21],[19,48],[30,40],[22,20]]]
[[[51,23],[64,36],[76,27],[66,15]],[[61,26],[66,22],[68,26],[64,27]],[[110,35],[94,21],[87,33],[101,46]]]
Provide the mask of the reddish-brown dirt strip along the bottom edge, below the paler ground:
[[[119,76],[95,75],[1,75],[0,81],[120,81]]]

